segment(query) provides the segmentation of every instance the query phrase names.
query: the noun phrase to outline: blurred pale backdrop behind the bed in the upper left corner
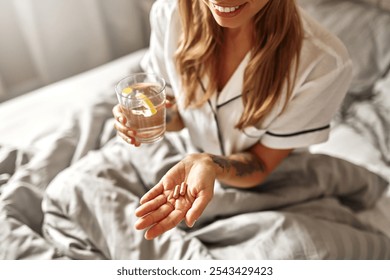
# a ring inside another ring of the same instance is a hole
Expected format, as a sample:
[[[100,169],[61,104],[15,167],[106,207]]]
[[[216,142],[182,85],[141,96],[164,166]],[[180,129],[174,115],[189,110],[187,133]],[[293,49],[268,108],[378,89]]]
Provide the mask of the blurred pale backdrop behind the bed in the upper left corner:
[[[0,0],[0,102],[147,46],[153,0]]]

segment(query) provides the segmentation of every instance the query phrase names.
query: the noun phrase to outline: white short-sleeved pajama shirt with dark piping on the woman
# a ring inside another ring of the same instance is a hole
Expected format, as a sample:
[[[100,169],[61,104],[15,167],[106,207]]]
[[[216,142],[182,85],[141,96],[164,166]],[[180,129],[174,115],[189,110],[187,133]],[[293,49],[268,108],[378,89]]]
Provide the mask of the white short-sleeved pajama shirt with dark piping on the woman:
[[[150,14],[150,47],[141,66],[166,79],[191,140],[200,151],[230,155],[258,142],[269,148],[291,149],[327,140],[331,120],[351,81],[352,64],[338,38],[302,10],[301,15],[305,38],[297,80],[287,107],[282,111],[282,98],[261,125],[240,131],[234,126],[243,112],[242,86],[250,54],[219,94],[214,94],[200,108],[184,108],[180,73],[174,65],[181,33],[177,0],[155,2]],[[207,77],[199,79],[197,94],[203,94],[206,86]]]

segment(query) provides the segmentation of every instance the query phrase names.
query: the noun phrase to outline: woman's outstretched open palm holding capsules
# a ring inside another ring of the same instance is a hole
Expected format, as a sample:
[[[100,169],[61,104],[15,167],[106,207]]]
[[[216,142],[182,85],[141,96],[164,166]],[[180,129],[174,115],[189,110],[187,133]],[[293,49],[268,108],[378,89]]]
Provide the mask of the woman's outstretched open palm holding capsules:
[[[141,198],[135,212],[136,229],[147,229],[146,239],[174,228],[183,219],[189,227],[202,214],[213,196],[215,174],[204,162],[187,157],[172,167],[161,181]],[[182,192],[177,188],[185,182]]]

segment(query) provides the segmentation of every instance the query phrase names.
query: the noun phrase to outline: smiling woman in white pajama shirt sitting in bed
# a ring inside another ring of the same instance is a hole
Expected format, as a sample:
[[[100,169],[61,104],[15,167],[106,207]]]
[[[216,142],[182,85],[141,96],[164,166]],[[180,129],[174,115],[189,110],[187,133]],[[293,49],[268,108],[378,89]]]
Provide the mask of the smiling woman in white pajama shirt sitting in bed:
[[[326,141],[351,80],[343,45],[293,0],[159,0],[151,25],[143,67],[171,85],[173,127],[188,128],[199,153],[141,198],[136,228],[146,239],[183,219],[192,227],[215,180],[258,186],[293,149]],[[138,146],[120,107],[113,112]]]

